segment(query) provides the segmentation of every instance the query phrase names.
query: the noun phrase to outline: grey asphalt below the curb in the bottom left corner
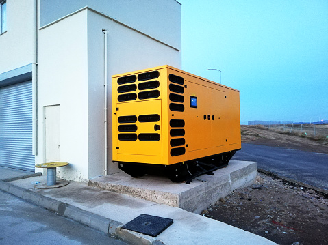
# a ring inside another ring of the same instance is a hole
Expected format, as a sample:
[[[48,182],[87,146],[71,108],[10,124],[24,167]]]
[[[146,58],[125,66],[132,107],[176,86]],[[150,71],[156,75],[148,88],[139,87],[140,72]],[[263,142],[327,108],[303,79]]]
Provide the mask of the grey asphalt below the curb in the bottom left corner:
[[[0,190],[0,244],[126,244]]]

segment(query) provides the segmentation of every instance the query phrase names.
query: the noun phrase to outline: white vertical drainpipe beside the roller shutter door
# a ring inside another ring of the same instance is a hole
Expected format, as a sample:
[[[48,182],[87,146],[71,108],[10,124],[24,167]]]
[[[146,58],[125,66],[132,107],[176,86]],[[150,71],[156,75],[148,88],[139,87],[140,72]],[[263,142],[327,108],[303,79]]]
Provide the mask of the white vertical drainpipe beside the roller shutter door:
[[[32,154],[38,155],[38,0],[33,1]]]

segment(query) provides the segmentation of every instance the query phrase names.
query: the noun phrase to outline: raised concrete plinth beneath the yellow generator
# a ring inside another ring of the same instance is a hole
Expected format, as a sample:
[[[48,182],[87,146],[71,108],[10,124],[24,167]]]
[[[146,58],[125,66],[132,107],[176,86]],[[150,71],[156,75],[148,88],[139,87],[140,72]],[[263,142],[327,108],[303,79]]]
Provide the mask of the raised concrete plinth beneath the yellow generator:
[[[214,176],[202,175],[191,184],[154,175],[133,178],[121,172],[91,179],[88,185],[200,214],[220,197],[252,184],[256,175],[256,162],[231,160],[227,167],[214,171]]]

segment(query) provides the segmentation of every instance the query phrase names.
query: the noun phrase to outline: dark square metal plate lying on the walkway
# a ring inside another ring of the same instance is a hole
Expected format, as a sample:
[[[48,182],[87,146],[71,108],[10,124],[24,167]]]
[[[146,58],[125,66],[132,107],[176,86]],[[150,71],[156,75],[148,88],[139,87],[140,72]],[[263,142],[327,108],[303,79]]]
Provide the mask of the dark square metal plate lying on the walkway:
[[[131,220],[121,228],[156,237],[167,227],[172,225],[172,223],[173,219],[171,218],[140,214],[137,218]]]

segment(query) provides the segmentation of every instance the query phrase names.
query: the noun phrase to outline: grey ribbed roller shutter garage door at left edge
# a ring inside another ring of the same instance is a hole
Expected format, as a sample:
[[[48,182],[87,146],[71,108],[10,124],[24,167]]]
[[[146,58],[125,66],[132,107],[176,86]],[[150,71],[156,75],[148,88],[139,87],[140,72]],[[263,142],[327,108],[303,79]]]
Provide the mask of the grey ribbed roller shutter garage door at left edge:
[[[0,88],[0,165],[34,171],[31,81]]]

